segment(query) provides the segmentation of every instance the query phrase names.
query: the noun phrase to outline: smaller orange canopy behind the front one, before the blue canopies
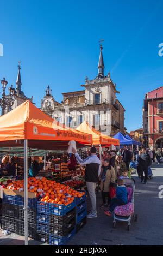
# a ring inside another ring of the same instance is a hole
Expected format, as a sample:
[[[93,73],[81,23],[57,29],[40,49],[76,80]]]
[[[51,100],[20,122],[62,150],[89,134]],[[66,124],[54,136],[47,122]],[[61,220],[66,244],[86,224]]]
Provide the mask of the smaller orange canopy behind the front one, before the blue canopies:
[[[78,130],[78,132],[85,132],[91,134],[93,139],[93,145],[120,145],[120,141],[118,139],[103,135],[101,132],[90,126],[89,123],[87,123],[86,121],[81,123],[80,126],[76,128],[76,130]]]

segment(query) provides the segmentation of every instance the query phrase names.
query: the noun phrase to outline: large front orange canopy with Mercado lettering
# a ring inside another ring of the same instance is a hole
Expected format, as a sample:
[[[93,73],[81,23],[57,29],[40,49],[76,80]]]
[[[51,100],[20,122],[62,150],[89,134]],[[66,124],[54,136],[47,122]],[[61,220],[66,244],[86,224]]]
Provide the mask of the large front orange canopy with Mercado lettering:
[[[49,150],[67,148],[70,140],[92,144],[90,134],[61,127],[29,100],[0,117],[0,146],[23,146],[24,139],[28,147]]]

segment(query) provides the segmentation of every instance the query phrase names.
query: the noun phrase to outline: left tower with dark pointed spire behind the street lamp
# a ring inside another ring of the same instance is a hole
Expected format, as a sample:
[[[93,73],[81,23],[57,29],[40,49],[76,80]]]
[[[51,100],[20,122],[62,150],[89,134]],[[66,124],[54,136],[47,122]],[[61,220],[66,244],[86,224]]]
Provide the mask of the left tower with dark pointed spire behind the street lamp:
[[[28,98],[25,96],[24,92],[22,91],[22,81],[21,81],[21,66],[20,66],[20,62],[18,64],[18,74],[17,74],[17,79],[16,79],[16,88],[15,88],[15,100],[12,106],[7,106],[4,109],[4,114],[6,114],[7,112],[11,111],[12,109],[17,108],[17,106],[21,105],[23,102],[25,102],[26,100],[30,100],[31,102],[33,101],[33,97]],[[13,87],[14,88],[14,87]],[[6,98],[10,98],[10,95],[6,95]]]

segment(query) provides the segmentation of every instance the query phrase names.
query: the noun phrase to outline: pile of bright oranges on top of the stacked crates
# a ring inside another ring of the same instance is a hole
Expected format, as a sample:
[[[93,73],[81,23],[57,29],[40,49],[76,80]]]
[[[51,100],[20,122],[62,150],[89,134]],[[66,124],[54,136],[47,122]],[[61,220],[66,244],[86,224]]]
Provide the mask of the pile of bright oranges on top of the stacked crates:
[[[24,180],[12,181],[8,184],[8,189],[23,191]],[[36,196],[41,196],[42,202],[52,204],[68,205],[74,201],[75,197],[82,197],[85,192],[78,192],[69,186],[47,180],[45,177],[28,178],[28,192],[35,192]]]

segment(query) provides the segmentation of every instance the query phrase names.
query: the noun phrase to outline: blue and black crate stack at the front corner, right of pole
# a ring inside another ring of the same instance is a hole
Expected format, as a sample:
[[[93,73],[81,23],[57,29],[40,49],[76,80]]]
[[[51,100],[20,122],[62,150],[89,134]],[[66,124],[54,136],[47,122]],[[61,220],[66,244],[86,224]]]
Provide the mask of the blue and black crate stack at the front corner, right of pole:
[[[67,206],[37,202],[37,237],[50,245],[65,245],[76,233],[76,203]]]

